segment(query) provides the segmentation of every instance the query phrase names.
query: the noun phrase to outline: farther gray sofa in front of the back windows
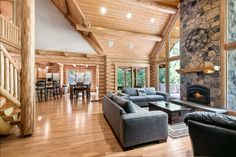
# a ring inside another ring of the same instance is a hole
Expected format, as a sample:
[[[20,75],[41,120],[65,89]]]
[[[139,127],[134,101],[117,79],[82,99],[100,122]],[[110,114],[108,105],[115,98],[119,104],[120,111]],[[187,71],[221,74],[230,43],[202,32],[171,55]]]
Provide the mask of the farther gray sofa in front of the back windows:
[[[144,88],[146,95],[139,95],[138,88],[125,88],[118,94],[126,96],[140,107],[149,106],[150,101],[169,101],[169,94],[156,91],[154,87]]]

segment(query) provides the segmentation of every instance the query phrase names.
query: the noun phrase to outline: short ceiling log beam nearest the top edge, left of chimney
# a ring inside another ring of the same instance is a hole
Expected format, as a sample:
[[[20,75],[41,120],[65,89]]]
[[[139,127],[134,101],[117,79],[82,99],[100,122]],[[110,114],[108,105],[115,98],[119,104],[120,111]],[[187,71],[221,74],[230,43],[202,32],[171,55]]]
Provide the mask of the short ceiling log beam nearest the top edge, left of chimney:
[[[159,11],[167,14],[175,14],[178,10],[177,7],[173,7],[168,4],[160,3],[152,0],[122,0],[125,3],[131,2],[133,5],[138,5],[147,9]]]

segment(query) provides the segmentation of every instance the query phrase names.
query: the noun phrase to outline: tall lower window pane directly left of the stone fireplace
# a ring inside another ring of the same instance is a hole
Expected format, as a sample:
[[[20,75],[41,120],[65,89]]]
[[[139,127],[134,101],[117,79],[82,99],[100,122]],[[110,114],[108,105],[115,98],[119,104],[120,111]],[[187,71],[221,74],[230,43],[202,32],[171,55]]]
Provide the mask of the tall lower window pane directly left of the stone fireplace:
[[[180,69],[180,60],[169,63],[170,95],[174,98],[180,97],[180,75],[176,72]]]

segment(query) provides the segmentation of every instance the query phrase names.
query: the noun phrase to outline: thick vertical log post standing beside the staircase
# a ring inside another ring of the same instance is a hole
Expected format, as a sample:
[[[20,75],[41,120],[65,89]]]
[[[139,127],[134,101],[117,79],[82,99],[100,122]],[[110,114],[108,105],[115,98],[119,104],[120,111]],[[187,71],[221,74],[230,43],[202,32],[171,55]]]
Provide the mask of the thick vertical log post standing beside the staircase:
[[[21,29],[21,135],[29,136],[34,132],[35,119],[35,1],[22,0]]]

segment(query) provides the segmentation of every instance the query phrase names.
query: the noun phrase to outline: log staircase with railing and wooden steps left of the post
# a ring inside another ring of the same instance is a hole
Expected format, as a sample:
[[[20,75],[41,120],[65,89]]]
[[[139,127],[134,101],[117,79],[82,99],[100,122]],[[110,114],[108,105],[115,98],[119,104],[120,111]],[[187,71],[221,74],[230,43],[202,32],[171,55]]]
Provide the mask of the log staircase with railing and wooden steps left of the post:
[[[20,126],[20,67],[0,43],[0,134]]]

